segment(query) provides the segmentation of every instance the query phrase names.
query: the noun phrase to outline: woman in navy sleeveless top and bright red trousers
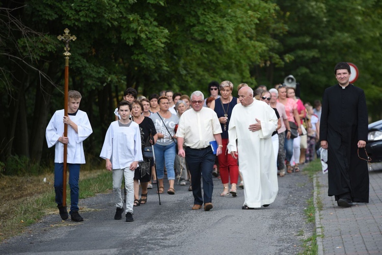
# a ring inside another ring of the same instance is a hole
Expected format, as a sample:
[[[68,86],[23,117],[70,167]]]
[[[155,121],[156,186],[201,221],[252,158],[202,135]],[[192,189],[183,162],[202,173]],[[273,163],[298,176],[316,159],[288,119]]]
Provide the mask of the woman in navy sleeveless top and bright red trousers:
[[[217,156],[219,161],[219,170],[222,184],[224,187],[221,196],[236,196],[236,186],[239,175],[237,160],[226,153],[228,144],[228,124],[231,118],[233,107],[239,103],[237,97],[232,96],[233,84],[230,81],[224,81],[220,84],[221,97],[211,101],[209,108],[216,112],[217,118],[222,126],[222,154]],[[231,179],[231,189],[229,190],[229,181]]]

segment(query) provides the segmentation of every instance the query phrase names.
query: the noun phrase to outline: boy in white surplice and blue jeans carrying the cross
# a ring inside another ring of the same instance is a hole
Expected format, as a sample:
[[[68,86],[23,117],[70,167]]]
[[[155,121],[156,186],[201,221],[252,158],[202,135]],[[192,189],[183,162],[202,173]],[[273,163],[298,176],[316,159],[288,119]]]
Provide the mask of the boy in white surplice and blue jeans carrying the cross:
[[[69,168],[70,187],[70,218],[72,221],[83,221],[78,214],[78,179],[79,166],[85,164],[83,141],[92,133],[88,115],[78,110],[81,94],[78,91],[68,92],[68,116],[64,116],[64,109],[56,111],[46,127],[46,143],[54,149],[54,191],[60,216],[66,220],[69,215],[66,207],[62,206],[63,171],[64,171],[64,144],[68,144],[67,165]],[[64,137],[64,125],[68,125],[68,136]]]

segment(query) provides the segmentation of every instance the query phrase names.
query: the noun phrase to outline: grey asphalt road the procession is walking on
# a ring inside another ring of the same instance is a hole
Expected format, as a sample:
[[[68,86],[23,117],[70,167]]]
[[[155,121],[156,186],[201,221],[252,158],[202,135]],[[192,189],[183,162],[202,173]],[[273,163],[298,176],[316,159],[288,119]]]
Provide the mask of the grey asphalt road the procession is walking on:
[[[216,177],[209,212],[191,210],[188,185],[162,194],[160,206],[156,190],[149,190],[148,203],[134,207],[133,222],[114,220],[112,194],[99,194],[80,200],[83,222],[61,221],[58,212],[45,216],[2,242],[0,254],[296,254],[314,230],[304,216],[313,184],[302,172],[278,181],[276,201],[258,210],[241,210],[241,189],[237,197],[221,197]]]

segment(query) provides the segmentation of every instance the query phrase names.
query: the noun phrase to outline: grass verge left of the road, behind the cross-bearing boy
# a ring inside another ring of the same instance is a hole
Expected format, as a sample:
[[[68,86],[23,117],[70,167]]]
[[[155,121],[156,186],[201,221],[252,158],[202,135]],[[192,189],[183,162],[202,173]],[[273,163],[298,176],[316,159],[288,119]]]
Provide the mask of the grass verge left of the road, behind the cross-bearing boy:
[[[51,173],[40,176],[1,176],[0,242],[24,232],[27,226],[44,215],[58,214],[54,202],[53,179]],[[80,199],[104,193],[111,187],[112,174],[109,171],[80,172]],[[67,201],[70,205],[69,184],[67,184]]]

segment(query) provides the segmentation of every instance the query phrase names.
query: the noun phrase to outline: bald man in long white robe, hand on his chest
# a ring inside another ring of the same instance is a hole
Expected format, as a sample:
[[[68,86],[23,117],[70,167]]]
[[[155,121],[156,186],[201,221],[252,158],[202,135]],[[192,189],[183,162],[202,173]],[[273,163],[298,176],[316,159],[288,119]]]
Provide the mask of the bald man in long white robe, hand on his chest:
[[[228,152],[239,158],[244,181],[242,209],[267,207],[279,190],[271,137],[277,127],[276,113],[254,99],[250,87],[242,87],[238,97],[240,104],[233,108],[229,123]]]

